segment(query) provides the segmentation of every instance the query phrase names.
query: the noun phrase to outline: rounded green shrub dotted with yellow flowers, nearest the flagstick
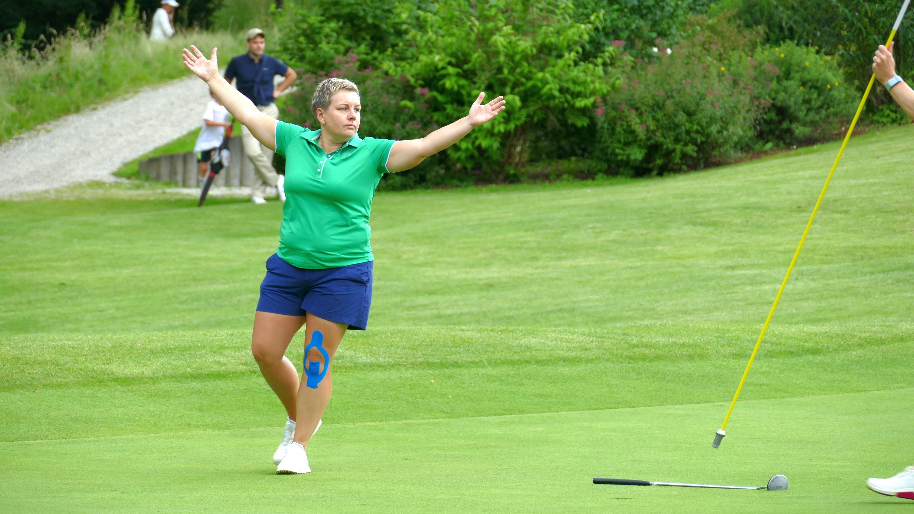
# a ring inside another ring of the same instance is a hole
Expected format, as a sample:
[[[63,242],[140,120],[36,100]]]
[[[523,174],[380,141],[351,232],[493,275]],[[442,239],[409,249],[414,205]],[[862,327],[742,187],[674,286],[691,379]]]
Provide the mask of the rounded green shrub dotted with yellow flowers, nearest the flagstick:
[[[766,101],[761,141],[783,146],[832,139],[853,116],[859,98],[834,59],[791,41],[758,48],[752,59]]]

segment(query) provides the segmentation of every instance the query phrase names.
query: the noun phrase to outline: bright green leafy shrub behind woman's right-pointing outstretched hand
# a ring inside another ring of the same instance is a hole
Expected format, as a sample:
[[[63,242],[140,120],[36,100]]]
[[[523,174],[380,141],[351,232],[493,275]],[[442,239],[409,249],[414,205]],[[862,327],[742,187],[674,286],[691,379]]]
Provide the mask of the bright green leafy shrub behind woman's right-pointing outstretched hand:
[[[546,142],[588,126],[595,100],[618,84],[613,48],[580,58],[594,26],[575,23],[572,14],[568,0],[475,7],[444,0],[417,13],[384,66],[430,91],[431,119],[440,125],[465,116],[478,91],[487,100],[505,95],[506,115],[448,150],[456,168],[505,181],[513,169],[554,156]]]

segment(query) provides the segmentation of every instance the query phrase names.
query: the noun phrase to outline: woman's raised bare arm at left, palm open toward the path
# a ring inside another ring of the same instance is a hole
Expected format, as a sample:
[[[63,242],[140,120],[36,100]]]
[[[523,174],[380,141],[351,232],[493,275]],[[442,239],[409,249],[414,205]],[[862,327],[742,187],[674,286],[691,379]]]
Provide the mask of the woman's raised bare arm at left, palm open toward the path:
[[[267,148],[275,150],[276,120],[258,111],[248,97],[231,87],[231,84],[219,75],[216,48],[213,48],[209,59],[203,57],[203,54],[194,45],[191,45],[190,48],[194,50],[194,53],[187,48],[184,49],[184,65],[187,69],[207,82],[209,91],[213,91],[219,102],[222,102],[222,105],[228,109],[228,112],[231,112],[232,116],[235,116],[239,123],[248,127],[250,134],[253,134]]]

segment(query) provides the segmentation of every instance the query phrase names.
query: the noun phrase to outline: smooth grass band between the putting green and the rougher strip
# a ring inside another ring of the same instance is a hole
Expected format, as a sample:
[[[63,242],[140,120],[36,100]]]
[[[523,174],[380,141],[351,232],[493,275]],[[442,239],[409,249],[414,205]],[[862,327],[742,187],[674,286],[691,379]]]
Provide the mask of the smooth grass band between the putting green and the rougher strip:
[[[707,337],[696,334],[694,340],[713,339],[717,332],[715,327],[705,330]],[[795,339],[772,341],[791,347],[815,333],[799,331]],[[745,391],[746,398],[909,387],[908,363],[914,358],[914,347],[908,334],[908,329],[902,329],[896,337],[886,337],[877,344],[845,349],[763,354],[757,374]],[[727,347],[719,355],[710,352],[688,357],[688,351],[670,346],[667,359],[640,360],[562,359],[564,348],[547,348],[537,357],[548,358],[521,361],[512,359],[510,352],[515,347],[505,343],[508,351],[503,353],[505,348],[493,346],[487,361],[477,359],[457,366],[442,365],[437,360],[426,364],[382,360],[374,365],[349,365],[341,359],[336,363],[334,397],[324,421],[462,418],[726,402],[732,393],[733,377],[745,365],[745,356],[728,356]],[[383,347],[375,351],[379,349]],[[582,351],[589,350],[583,347]],[[17,387],[0,391],[0,410],[5,412],[0,418],[0,439],[5,441],[162,434],[211,429],[214,425],[281,426],[284,419],[279,402],[253,369],[200,373],[196,377],[193,373],[163,373],[35,389]]]

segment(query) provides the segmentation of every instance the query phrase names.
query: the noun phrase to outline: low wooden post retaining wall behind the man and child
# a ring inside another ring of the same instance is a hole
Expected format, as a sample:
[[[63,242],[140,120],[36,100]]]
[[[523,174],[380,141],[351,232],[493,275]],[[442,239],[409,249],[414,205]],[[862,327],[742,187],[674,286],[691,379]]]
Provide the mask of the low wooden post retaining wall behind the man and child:
[[[228,151],[231,152],[231,164],[213,180],[213,186],[250,186],[254,182],[254,165],[244,154],[241,138],[233,136],[228,140]],[[159,155],[140,161],[140,174],[146,174],[153,180],[175,182],[180,187],[199,187],[197,175],[197,154]]]

